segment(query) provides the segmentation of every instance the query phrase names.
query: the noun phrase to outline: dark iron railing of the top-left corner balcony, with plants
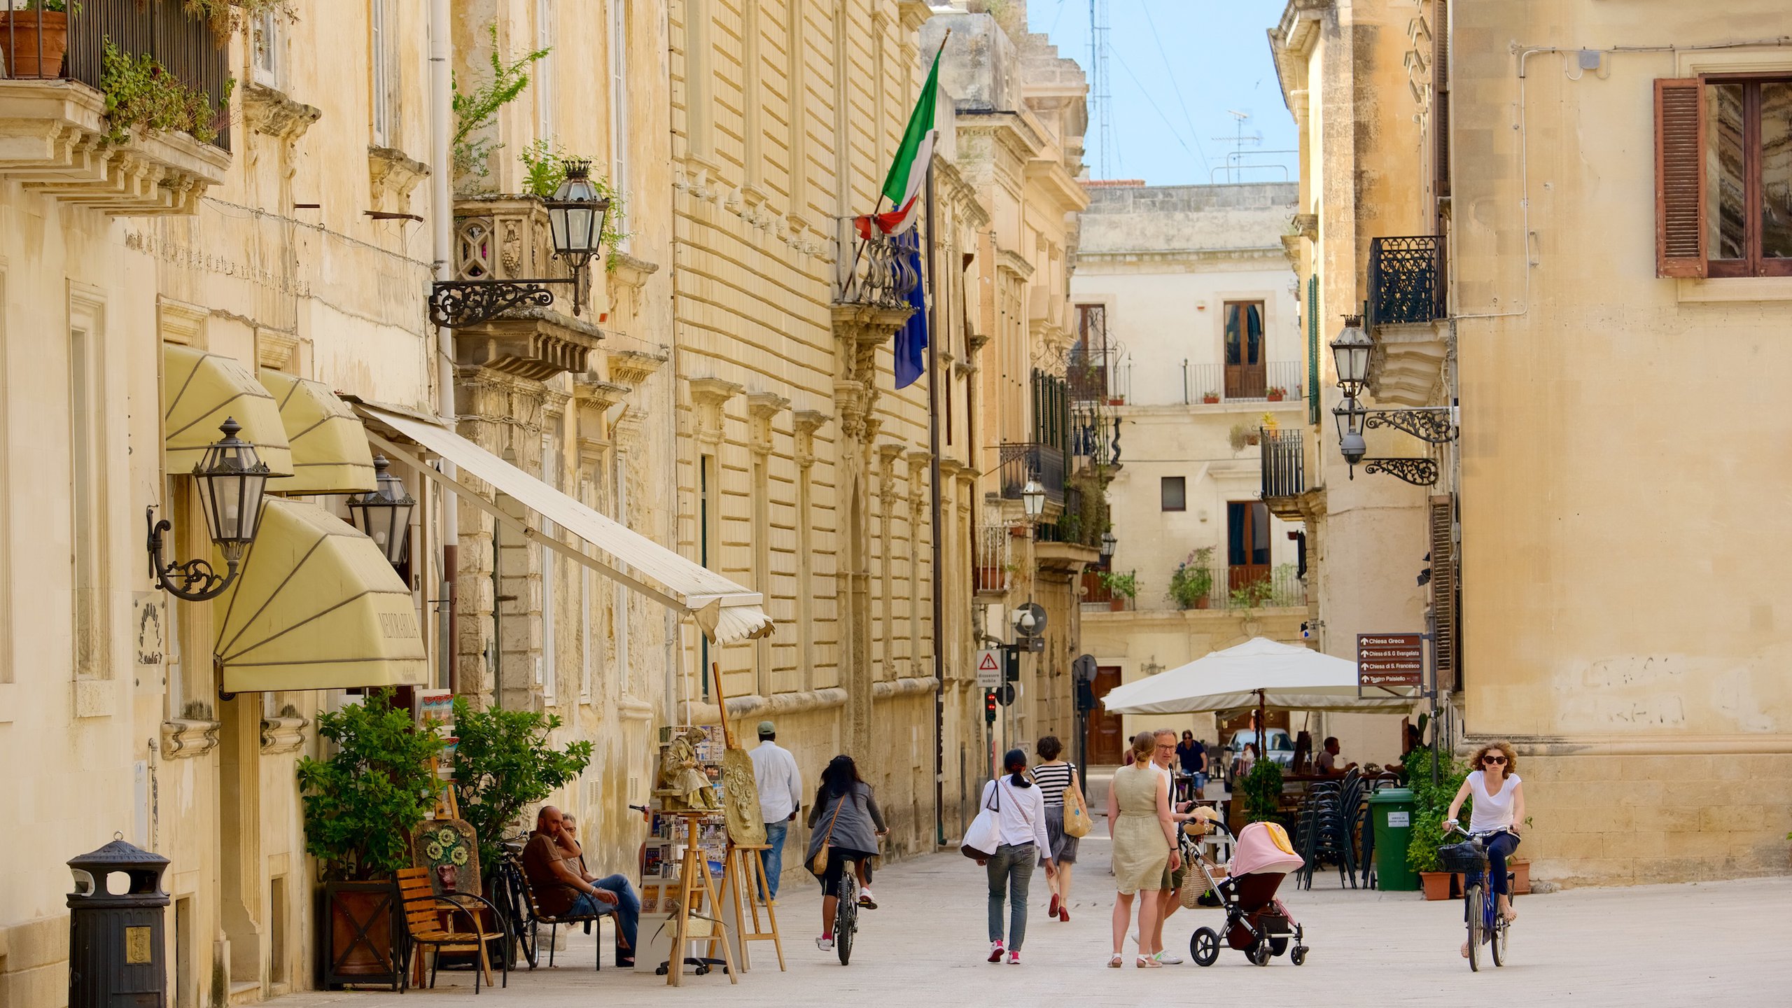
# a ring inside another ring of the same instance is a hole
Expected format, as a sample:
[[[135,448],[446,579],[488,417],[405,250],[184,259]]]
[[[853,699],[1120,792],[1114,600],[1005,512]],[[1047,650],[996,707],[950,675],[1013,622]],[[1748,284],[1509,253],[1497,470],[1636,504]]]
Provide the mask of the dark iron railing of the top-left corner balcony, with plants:
[[[152,57],[181,84],[219,109],[229,86],[229,39],[183,9],[183,0],[70,0],[66,11],[0,0],[0,77],[79,81],[104,91],[106,43],[136,63]],[[0,117],[5,113],[0,111]],[[229,124],[219,115],[213,147],[229,151]]]

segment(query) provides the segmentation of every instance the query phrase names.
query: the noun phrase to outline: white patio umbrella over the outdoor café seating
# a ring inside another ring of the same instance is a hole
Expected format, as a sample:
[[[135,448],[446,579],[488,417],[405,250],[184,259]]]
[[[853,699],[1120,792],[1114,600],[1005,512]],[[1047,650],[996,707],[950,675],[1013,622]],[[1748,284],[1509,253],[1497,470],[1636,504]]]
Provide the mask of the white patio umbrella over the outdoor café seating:
[[[1401,714],[1414,698],[1369,689],[1357,696],[1357,662],[1253,637],[1236,647],[1115,687],[1109,714],[1204,714],[1244,707]]]

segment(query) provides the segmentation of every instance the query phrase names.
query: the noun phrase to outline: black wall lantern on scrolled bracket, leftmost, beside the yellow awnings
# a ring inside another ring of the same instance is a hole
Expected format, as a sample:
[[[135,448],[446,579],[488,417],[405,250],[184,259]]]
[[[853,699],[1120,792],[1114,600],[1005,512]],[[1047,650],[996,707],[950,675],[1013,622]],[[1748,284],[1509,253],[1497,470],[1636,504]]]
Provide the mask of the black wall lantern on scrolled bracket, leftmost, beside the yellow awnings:
[[[194,479],[199,482],[199,509],[206,517],[206,531],[224,554],[229,570],[220,578],[206,560],[163,563],[161,533],[174,526],[167,518],[158,522],[156,508],[149,508],[151,574],[170,595],[190,603],[219,597],[237,578],[242,552],[254,542],[254,533],[262,526],[262,493],[271,475],[254,445],[237,438],[240,423],[226,418],[219,430],[224,432],[224,439],[206,448],[194,466]]]

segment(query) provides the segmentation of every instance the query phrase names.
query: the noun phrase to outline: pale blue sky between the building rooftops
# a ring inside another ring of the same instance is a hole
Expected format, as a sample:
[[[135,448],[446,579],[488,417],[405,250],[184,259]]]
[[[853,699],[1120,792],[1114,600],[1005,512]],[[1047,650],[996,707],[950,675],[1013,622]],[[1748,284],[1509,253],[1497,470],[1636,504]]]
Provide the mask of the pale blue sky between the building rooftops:
[[[1281,100],[1267,30],[1287,0],[1095,0],[1107,7],[1113,143],[1102,172],[1090,91],[1090,178],[1150,185],[1296,178],[1294,117]],[[1091,0],[1029,0],[1030,29],[1090,72]],[[1238,118],[1245,113],[1245,142]],[[1231,158],[1242,151],[1242,158]],[[1278,152],[1281,151],[1281,152]],[[1249,165],[1229,169],[1231,165]]]

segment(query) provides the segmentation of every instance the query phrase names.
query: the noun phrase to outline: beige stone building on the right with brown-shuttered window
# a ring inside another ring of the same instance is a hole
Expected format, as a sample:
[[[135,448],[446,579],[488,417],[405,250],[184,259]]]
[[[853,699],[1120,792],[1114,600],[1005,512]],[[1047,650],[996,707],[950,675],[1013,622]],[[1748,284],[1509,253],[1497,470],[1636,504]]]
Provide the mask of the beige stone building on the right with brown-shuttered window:
[[[1437,482],[1355,529],[1324,438],[1328,490],[1297,500],[1330,517],[1319,615],[1335,635],[1353,597],[1428,603],[1450,739],[1516,744],[1534,877],[1785,870],[1785,578],[1744,531],[1779,477],[1706,479],[1713,443],[1747,459],[1783,427],[1753,389],[1787,321],[1763,154],[1785,25],[1747,2],[1297,0],[1271,32],[1321,317],[1367,300],[1371,405],[1460,407],[1457,441],[1398,452]],[[1613,409],[1631,427],[1602,438]],[[1428,597],[1407,579],[1426,549]]]

